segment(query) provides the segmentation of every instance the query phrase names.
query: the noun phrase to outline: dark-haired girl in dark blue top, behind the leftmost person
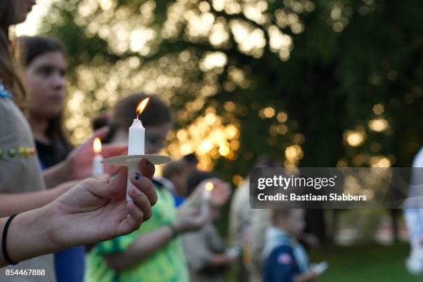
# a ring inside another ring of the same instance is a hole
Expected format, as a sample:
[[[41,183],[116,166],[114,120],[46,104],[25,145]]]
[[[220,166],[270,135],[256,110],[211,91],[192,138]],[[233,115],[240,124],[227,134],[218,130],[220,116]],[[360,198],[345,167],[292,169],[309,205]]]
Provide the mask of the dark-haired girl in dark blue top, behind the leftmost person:
[[[66,95],[66,59],[62,44],[51,37],[19,37],[26,84],[26,113],[41,169],[62,162],[71,151],[62,129]],[[58,282],[84,281],[85,247],[55,254]]]

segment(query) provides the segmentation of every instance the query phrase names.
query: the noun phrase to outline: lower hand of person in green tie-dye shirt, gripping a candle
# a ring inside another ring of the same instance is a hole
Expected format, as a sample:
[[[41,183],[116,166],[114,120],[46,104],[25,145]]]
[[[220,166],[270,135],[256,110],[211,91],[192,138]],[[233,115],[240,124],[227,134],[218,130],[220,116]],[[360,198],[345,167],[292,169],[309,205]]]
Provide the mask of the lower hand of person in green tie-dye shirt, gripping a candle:
[[[196,231],[209,222],[209,216],[202,216],[198,208],[189,207],[178,213],[175,227],[180,233]]]

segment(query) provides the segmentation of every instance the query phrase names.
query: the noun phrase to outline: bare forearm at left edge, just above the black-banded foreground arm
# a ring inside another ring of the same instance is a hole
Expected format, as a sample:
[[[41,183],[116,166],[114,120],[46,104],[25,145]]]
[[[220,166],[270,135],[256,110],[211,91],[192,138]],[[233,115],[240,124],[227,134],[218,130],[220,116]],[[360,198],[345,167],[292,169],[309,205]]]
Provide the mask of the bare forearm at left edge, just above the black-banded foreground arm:
[[[53,189],[43,191],[0,194],[0,217],[43,207],[75,186],[77,182],[79,181],[65,182]]]

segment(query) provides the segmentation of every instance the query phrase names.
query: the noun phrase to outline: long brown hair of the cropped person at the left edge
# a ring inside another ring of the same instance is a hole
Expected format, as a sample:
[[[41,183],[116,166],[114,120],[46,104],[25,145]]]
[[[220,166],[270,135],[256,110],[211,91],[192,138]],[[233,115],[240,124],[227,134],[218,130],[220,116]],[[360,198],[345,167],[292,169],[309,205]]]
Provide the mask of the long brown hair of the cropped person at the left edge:
[[[25,88],[17,67],[17,50],[9,38],[9,29],[15,17],[13,0],[0,1],[0,80],[13,93],[15,102],[22,106]]]

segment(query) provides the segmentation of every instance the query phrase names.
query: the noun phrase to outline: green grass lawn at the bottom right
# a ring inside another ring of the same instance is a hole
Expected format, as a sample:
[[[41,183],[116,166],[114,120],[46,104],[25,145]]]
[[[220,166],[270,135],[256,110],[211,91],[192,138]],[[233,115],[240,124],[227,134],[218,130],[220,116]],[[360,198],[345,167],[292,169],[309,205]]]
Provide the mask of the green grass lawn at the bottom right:
[[[420,281],[420,277],[412,276],[406,270],[404,261],[408,252],[409,247],[405,243],[388,247],[322,247],[310,252],[310,260],[329,263],[319,282]]]

